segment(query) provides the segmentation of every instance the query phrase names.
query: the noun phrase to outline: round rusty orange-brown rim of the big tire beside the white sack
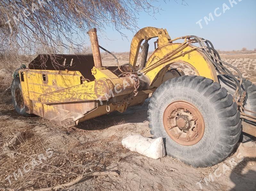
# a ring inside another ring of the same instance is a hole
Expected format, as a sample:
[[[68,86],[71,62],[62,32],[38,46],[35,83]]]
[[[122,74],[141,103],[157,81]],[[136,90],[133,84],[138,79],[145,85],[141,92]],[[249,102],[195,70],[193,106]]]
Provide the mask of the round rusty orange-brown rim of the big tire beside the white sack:
[[[174,101],[163,114],[164,129],[178,144],[190,146],[198,143],[204,134],[204,120],[201,112],[191,103]]]

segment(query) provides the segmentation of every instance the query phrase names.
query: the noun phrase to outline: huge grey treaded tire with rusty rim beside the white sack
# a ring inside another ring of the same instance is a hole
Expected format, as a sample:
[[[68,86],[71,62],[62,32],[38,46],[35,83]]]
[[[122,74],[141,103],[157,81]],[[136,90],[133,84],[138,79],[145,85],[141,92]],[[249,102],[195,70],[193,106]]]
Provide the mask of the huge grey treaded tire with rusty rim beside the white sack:
[[[148,108],[153,137],[163,137],[167,155],[188,165],[215,165],[239,140],[237,105],[211,79],[182,76],[167,80],[153,93]]]

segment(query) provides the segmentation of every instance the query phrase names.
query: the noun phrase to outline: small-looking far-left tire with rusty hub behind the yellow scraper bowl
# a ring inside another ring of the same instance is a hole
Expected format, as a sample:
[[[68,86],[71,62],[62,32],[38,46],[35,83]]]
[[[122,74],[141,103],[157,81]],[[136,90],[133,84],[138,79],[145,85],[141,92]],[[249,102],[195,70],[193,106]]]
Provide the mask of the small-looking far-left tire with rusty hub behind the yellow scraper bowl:
[[[21,90],[21,81],[19,77],[15,77],[12,80],[11,92],[12,103],[16,112],[20,115],[29,116],[30,114],[26,113],[24,99]]]

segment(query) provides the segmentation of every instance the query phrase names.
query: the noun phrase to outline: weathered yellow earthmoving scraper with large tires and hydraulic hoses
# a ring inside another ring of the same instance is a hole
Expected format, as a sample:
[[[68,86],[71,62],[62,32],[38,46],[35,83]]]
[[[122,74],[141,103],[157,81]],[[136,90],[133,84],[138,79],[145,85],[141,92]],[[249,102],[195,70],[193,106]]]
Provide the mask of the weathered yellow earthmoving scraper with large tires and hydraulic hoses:
[[[125,112],[153,93],[148,106],[151,134],[163,137],[169,156],[195,167],[226,158],[242,127],[256,136],[256,86],[223,62],[209,40],[171,39],[166,29],[145,27],[132,39],[129,63],[119,65],[115,55],[99,46],[96,29],[88,35],[92,55],[38,55],[28,68],[18,70],[12,98],[19,114],[36,114],[69,127]],[[153,38],[155,49],[147,59],[148,40]],[[102,66],[100,48],[115,57],[117,66]],[[196,75],[172,67],[177,62]]]

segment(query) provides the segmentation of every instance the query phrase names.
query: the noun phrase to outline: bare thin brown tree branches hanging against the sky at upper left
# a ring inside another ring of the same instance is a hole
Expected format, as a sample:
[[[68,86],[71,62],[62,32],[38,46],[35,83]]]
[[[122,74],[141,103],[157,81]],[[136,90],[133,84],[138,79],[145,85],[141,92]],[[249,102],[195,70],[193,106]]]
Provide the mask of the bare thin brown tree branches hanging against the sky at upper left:
[[[177,1],[177,0],[175,0]],[[182,0],[181,4],[184,4]],[[155,0],[0,0],[0,54],[63,53],[81,49],[88,29],[135,31],[141,11],[154,16]]]

